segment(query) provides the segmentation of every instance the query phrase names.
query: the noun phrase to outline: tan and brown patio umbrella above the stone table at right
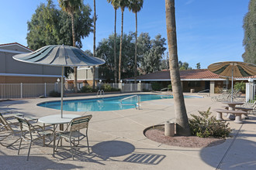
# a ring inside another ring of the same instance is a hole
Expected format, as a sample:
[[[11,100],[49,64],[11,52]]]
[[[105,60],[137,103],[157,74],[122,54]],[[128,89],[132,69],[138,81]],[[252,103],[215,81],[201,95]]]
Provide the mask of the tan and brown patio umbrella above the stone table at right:
[[[208,66],[208,70],[221,76],[230,76],[231,84],[231,102],[233,102],[233,79],[234,77],[254,76],[256,75],[256,65],[238,61],[227,61],[213,63]]]

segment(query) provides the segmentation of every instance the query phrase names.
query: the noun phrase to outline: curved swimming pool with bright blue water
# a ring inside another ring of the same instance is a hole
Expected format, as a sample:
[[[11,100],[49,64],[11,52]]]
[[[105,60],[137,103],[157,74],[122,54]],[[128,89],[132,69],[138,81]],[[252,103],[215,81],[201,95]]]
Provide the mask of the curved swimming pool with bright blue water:
[[[120,100],[125,97],[133,95],[123,95],[119,97],[104,97],[82,100],[64,100],[63,110],[66,111],[109,111],[109,110],[124,110],[135,108],[134,105],[122,105]],[[138,94],[140,101],[147,100],[160,100],[173,98],[171,95],[157,95],[157,94]],[[185,96],[185,98],[194,98]],[[132,97],[127,100],[123,100],[123,104],[137,104],[137,97]],[[52,109],[61,110],[61,101],[49,101],[37,104],[40,107],[47,107]]]

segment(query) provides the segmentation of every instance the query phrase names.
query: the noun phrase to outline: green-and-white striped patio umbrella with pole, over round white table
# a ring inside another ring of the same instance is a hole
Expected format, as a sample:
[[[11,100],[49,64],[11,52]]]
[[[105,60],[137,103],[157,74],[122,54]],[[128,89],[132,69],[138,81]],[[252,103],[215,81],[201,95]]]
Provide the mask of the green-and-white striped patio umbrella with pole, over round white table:
[[[25,63],[34,63],[47,66],[61,66],[61,117],[63,117],[63,77],[64,66],[99,66],[105,63],[104,59],[88,56],[81,49],[74,46],[50,45],[43,46],[32,53],[12,56]]]

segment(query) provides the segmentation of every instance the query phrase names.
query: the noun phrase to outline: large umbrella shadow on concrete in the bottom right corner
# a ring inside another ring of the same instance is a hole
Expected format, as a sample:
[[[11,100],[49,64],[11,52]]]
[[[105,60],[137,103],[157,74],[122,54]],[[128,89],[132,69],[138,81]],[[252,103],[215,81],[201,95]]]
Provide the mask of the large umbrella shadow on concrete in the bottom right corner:
[[[226,144],[202,148],[202,160],[216,169],[255,169],[256,142],[240,138],[233,140],[230,138]]]

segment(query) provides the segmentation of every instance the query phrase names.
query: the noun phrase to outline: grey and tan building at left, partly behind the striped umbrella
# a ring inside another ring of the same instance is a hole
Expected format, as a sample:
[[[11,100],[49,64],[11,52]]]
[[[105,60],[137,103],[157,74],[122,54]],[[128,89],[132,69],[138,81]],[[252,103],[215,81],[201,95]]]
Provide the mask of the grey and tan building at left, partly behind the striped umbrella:
[[[32,49],[17,42],[0,44],[0,83],[55,83],[61,67],[19,62],[12,56],[31,53]]]

